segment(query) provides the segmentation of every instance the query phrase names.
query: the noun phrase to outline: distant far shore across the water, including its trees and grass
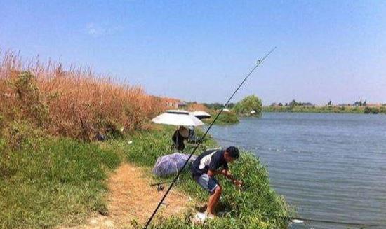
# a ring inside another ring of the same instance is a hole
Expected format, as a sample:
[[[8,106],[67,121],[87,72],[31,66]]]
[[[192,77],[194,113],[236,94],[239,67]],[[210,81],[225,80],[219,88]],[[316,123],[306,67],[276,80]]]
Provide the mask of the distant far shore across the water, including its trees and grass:
[[[334,105],[330,102],[326,106],[316,106],[311,103],[296,102],[286,104],[271,104],[263,106],[264,112],[298,112],[298,113],[386,113],[386,104],[367,104],[366,101],[354,104]]]

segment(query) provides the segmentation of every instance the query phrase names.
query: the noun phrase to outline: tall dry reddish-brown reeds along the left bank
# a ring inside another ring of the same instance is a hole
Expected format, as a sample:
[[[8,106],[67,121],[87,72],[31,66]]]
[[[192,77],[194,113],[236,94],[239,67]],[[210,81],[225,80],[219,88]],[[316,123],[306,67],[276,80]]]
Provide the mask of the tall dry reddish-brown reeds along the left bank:
[[[93,140],[146,129],[164,109],[161,98],[140,86],[114,83],[90,68],[25,61],[0,50],[0,122],[28,122],[51,134]]]

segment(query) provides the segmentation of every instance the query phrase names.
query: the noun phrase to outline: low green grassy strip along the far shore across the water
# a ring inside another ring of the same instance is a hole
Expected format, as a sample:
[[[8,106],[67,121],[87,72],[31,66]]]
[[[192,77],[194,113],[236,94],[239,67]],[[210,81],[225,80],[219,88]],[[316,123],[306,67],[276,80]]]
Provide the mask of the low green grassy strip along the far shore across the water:
[[[386,113],[386,106],[263,106],[263,112]]]

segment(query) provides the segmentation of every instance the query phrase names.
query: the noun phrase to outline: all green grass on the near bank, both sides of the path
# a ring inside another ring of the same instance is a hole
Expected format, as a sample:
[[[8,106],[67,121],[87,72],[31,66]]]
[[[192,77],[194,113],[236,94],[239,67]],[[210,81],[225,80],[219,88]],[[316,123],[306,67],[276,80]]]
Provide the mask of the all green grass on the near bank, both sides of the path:
[[[16,148],[9,147],[9,139],[0,137],[0,228],[78,225],[92,212],[107,214],[109,172],[123,161],[150,172],[159,156],[173,152],[173,127],[136,132],[131,137],[103,143],[39,137],[43,133],[28,131],[23,125],[15,125],[13,129],[19,133],[13,135]],[[197,133],[203,134],[199,130]],[[217,143],[207,137],[196,154],[216,146]],[[193,148],[187,144],[185,153]],[[243,152],[230,169],[244,181],[246,190],[239,192],[220,176],[225,189],[219,207],[223,213],[199,228],[286,228],[286,221],[280,216],[288,216],[290,210],[284,199],[270,188],[267,169],[259,159]],[[165,181],[172,176],[153,177]],[[206,202],[208,198],[208,193],[194,183],[189,171],[182,173],[175,188],[197,202]],[[192,228],[192,214],[190,209],[183,218],[157,218],[152,227]],[[131,226],[135,227],[128,225]]]

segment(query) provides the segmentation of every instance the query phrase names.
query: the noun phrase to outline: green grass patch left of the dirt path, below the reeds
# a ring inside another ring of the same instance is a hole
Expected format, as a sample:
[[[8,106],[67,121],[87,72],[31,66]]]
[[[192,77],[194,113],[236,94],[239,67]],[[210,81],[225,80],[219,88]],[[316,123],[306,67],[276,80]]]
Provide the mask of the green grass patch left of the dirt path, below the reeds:
[[[107,211],[105,179],[117,153],[71,139],[26,141],[39,144],[0,151],[0,228],[73,225]]]

